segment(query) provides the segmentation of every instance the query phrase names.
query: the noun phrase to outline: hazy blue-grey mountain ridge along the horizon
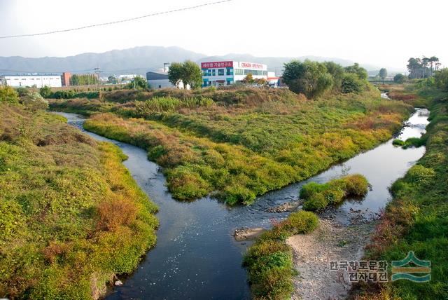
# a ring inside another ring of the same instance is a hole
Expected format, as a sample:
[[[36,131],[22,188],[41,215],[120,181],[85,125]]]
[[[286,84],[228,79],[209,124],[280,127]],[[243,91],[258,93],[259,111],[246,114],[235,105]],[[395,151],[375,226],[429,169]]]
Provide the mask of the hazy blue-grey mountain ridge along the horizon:
[[[0,57],[0,74],[23,73],[72,73],[92,72],[99,67],[102,76],[110,74],[146,74],[146,71],[161,69],[164,62],[178,62],[193,60],[195,62],[213,60],[237,60],[259,62],[267,64],[269,71],[281,72],[283,64],[290,60],[316,60],[323,62],[332,60],[342,66],[353,64],[349,60],[335,57],[255,57],[249,54],[230,53],[221,56],[206,56],[179,47],[142,46],[125,50],[111,50],[105,53],[83,53],[69,57]],[[377,70],[379,67],[369,64],[361,64],[367,70]]]

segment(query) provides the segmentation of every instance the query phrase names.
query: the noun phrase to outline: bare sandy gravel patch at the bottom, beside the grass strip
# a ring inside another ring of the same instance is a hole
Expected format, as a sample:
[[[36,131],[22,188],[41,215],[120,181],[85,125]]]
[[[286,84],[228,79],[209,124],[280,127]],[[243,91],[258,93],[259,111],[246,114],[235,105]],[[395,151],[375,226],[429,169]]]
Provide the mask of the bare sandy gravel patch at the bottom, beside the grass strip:
[[[375,222],[358,218],[349,226],[334,219],[321,219],[320,223],[313,233],[287,240],[300,272],[292,299],[344,299],[351,287],[348,273],[330,271],[330,261],[360,260]]]

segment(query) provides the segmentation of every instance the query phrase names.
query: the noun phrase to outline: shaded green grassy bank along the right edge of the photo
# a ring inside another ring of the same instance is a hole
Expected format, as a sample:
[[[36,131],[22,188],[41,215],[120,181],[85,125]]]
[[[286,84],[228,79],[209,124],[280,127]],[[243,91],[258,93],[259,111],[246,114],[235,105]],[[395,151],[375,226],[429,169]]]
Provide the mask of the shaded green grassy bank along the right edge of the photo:
[[[414,251],[419,259],[431,262],[431,279],[424,283],[397,280],[384,285],[358,285],[352,294],[356,299],[448,298],[448,94],[430,88],[403,93],[412,95],[406,96],[409,99],[419,99],[419,106],[421,99],[426,100],[430,108],[430,124],[423,137],[426,153],[392,185],[393,200],[367,247],[366,257],[390,264]]]

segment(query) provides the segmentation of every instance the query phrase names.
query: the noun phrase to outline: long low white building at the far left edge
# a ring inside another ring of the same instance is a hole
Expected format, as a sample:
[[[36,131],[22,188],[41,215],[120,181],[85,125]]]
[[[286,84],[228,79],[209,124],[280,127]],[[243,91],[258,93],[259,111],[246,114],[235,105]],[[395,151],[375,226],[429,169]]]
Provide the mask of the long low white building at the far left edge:
[[[1,76],[0,81],[13,88],[19,88],[20,86],[60,88],[62,86],[61,76],[59,75],[5,75]]]

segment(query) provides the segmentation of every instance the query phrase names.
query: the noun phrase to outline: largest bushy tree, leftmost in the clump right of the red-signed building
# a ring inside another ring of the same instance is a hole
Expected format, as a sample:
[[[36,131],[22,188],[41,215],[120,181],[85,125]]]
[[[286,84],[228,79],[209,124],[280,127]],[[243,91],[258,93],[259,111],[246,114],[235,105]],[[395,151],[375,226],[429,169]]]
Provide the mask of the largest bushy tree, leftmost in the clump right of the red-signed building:
[[[322,95],[332,86],[332,76],[324,64],[305,60],[293,60],[284,64],[283,81],[294,93],[302,93],[308,98]]]

